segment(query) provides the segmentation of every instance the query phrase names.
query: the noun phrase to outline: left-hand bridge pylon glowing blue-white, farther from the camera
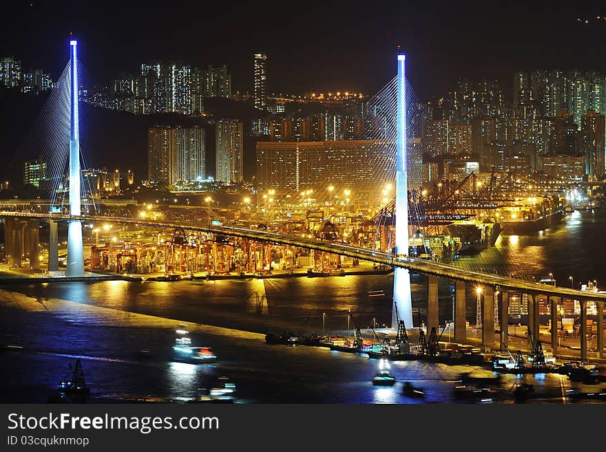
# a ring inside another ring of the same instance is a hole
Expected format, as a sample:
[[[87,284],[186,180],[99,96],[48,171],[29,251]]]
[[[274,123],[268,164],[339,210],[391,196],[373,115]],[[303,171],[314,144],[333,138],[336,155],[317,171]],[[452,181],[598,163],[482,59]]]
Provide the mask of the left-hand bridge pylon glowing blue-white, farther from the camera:
[[[70,215],[81,215],[80,210],[80,139],[78,125],[78,58],[77,41],[70,41]],[[67,226],[67,264],[65,275],[84,276],[82,224],[70,221]]]

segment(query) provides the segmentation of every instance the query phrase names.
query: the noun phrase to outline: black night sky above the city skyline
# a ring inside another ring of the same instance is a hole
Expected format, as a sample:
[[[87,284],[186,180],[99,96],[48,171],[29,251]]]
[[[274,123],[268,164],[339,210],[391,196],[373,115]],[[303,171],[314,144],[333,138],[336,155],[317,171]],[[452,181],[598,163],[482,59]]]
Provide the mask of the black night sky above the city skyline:
[[[67,35],[97,83],[136,72],[151,58],[227,64],[233,89],[251,89],[253,53],[269,57],[269,92],[362,90],[395,74],[408,54],[420,98],[459,77],[501,78],[520,69],[605,69],[606,21],[583,1],[19,1],[2,6],[0,56],[54,78],[67,63]],[[419,6],[427,3],[427,6]],[[598,8],[598,7],[596,7]],[[577,17],[592,19],[578,23]]]

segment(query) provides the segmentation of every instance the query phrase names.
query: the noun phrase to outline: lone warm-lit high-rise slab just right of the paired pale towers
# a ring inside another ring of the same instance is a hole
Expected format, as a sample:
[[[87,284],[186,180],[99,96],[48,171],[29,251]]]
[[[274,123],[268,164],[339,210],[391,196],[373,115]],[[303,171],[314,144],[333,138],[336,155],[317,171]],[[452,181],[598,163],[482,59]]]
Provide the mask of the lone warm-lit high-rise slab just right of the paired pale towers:
[[[229,184],[244,180],[242,122],[216,122],[216,180]]]

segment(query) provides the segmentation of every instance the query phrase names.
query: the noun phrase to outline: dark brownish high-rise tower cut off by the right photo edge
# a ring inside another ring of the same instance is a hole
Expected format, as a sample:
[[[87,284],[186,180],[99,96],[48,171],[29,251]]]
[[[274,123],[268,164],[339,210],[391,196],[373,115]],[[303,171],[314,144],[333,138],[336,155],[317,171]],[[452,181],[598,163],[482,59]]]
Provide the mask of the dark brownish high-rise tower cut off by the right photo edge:
[[[589,177],[604,174],[604,115],[589,110],[581,117],[581,140],[585,153],[585,173]]]

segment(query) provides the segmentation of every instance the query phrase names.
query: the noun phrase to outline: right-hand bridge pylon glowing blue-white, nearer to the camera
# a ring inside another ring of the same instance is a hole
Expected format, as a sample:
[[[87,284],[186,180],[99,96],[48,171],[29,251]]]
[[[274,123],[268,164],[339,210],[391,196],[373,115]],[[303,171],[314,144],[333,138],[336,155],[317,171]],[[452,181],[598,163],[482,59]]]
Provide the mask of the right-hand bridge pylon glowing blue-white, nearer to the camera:
[[[395,175],[395,253],[408,256],[408,173],[406,172],[406,55],[397,54],[397,136]],[[396,330],[397,319],[412,327],[412,296],[410,272],[395,268],[393,275],[393,307],[391,328]]]

